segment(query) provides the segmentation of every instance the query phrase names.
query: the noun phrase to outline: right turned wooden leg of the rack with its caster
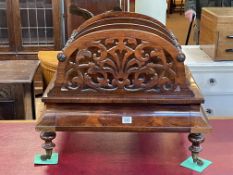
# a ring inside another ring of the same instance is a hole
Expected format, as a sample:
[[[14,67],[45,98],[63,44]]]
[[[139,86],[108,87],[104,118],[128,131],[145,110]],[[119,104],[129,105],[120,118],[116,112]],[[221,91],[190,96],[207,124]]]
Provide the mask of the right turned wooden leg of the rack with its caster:
[[[202,151],[200,144],[205,140],[203,134],[191,133],[189,134],[188,139],[192,143],[192,145],[189,147],[189,150],[192,152],[193,162],[197,163],[199,166],[203,165],[203,161],[198,157],[199,152]]]

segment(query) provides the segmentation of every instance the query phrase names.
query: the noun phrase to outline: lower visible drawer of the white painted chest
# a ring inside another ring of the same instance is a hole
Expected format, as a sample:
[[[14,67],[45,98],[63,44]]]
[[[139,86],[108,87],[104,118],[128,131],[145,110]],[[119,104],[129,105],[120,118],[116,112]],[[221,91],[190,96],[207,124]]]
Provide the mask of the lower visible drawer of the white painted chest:
[[[232,117],[232,95],[204,95],[204,110],[208,117]]]

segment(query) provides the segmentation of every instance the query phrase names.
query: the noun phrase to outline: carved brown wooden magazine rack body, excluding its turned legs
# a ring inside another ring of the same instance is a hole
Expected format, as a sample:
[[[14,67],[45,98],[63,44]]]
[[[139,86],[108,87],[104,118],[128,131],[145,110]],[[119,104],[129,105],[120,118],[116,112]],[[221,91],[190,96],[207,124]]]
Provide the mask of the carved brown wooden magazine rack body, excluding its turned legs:
[[[179,131],[199,137],[211,128],[180,45],[153,18],[95,16],[74,31],[58,60],[37,130]],[[122,123],[124,115],[133,122]]]

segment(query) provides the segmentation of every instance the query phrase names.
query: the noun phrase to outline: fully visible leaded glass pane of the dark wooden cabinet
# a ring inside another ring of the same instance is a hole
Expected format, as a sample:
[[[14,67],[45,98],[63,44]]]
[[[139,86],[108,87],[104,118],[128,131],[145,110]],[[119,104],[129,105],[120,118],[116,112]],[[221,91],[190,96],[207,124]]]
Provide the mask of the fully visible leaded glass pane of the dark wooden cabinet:
[[[53,46],[52,0],[20,0],[22,46]]]

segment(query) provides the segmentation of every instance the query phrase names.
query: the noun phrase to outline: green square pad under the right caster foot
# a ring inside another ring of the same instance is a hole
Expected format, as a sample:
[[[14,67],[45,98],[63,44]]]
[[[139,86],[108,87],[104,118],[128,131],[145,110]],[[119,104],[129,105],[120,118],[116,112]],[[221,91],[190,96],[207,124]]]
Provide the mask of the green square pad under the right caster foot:
[[[212,164],[211,161],[209,160],[205,160],[205,159],[201,159],[203,161],[203,165],[199,166],[196,163],[193,162],[192,157],[190,156],[189,158],[187,158],[185,161],[183,161],[180,165],[182,167],[197,171],[199,173],[201,173],[202,171],[204,171],[209,165]]]

